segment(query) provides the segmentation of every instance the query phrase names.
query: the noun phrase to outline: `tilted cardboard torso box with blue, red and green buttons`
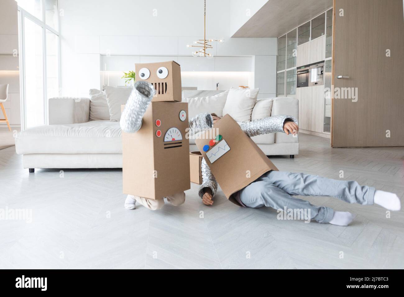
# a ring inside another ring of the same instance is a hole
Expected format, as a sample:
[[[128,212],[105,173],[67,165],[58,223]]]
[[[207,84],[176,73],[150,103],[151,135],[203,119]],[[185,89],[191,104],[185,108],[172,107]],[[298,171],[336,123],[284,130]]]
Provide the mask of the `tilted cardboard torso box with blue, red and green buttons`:
[[[213,125],[213,130],[204,134],[213,137],[196,139],[195,143],[227,199],[265,172],[278,170],[228,114]],[[221,136],[221,140],[210,145],[210,140],[215,136]],[[209,146],[207,152],[203,150],[204,145]]]

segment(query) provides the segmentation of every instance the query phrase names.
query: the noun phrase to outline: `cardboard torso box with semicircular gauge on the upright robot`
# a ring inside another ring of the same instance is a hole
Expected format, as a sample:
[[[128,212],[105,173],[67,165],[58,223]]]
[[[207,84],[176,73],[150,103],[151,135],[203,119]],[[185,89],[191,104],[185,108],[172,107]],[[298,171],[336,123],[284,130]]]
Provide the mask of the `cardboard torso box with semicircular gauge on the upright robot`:
[[[152,101],[140,130],[122,131],[124,194],[161,199],[190,188],[188,119],[180,120],[181,111],[188,114],[187,103]]]

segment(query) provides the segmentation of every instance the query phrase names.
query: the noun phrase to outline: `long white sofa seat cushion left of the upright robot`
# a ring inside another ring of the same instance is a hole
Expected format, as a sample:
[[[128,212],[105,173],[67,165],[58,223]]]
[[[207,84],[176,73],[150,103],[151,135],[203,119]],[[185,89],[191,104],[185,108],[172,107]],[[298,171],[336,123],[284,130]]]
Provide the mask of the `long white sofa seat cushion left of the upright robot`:
[[[43,125],[21,131],[17,154],[122,154],[119,122]]]

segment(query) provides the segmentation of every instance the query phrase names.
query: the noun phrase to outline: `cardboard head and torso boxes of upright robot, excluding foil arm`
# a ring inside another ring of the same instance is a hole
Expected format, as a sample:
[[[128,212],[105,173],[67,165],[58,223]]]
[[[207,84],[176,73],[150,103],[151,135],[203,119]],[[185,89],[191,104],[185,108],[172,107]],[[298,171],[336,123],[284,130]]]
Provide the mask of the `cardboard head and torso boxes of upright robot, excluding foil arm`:
[[[181,101],[181,69],[174,61],[136,64],[137,80],[156,95],[135,133],[122,131],[123,192],[162,199],[190,188],[188,103]],[[124,105],[122,105],[122,110]]]

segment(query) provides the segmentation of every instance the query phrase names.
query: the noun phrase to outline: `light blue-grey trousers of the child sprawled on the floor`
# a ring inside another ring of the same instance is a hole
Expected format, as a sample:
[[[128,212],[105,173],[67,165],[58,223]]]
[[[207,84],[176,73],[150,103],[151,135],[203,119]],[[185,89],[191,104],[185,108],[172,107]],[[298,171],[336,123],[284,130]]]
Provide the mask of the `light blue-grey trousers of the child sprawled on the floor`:
[[[293,198],[292,195],[332,196],[348,203],[372,205],[375,188],[361,186],[356,181],[328,179],[305,173],[269,171],[240,190],[240,200],[248,207],[307,209],[310,210],[310,219],[319,223],[328,223],[332,219],[333,209],[312,205],[306,200]]]

